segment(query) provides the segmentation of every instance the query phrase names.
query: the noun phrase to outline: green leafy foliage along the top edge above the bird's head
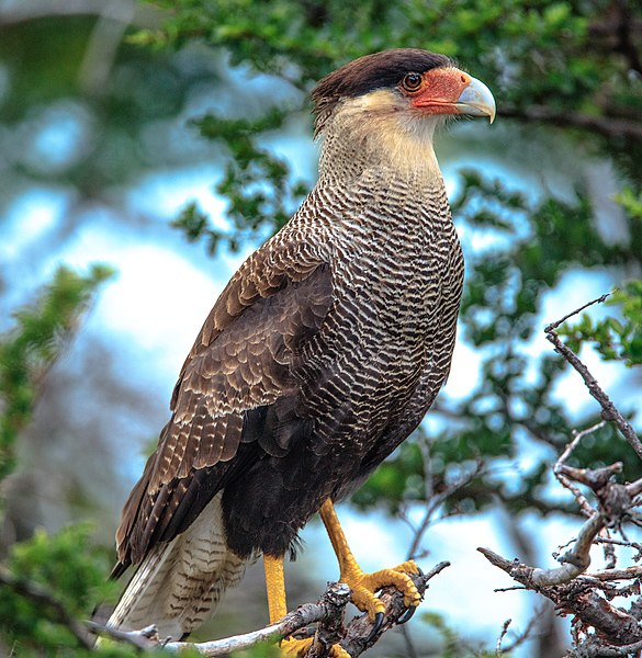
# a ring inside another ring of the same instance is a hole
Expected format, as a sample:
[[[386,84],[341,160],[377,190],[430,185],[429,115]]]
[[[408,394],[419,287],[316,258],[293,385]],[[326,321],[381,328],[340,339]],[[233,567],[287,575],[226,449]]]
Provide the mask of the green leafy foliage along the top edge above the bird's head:
[[[278,0],[261,8],[260,21],[256,5],[247,0],[154,4],[171,10],[170,18],[158,31],[139,31],[134,43],[180,46],[202,38],[226,48],[232,64],[249,64],[301,86],[337,63],[413,44],[464,65],[474,63],[478,75],[499,82],[503,102],[600,111],[608,89],[608,102],[634,116],[626,102],[630,101],[627,60],[618,50],[602,47],[610,35],[602,25],[608,9],[599,2],[369,0],[356,10],[339,0]],[[639,15],[635,3],[623,3],[623,9],[629,19]]]

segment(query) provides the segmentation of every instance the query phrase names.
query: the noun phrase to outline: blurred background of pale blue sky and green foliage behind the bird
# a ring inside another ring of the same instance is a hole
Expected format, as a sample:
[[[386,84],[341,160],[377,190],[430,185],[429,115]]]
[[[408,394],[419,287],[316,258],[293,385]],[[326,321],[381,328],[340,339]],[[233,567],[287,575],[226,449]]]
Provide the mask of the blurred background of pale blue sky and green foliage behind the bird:
[[[579,526],[551,465],[599,408],[543,327],[613,288],[567,339],[640,427],[641,41],[626,0],[0,0],[0,554],[70,532],[104,578],[203,319],[314,184],[308,91],[352,57],[424,47],[486,82],[498,116],[437,138],[466,256],[448,385],[340,509],[365,568],[452,561],[371,654],[494,650],[506,619],[508,646],[537,617],[516,655],[561,656],[565,622],[494,592],[513,581],[475,548],[550,566]],[[574,457],[641,475],[608,426]],[[303,538],[291,604],[338,575],[316,521]],[[199,636],[266,621],[257,565]],[[36,642],[5,624],[4,648]]]

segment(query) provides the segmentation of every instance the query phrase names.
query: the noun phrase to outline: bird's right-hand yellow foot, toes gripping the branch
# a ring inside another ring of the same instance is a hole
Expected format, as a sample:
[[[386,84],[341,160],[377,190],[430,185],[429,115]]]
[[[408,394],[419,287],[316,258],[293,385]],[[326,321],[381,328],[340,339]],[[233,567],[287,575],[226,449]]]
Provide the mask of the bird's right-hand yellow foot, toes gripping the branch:
[[[350,564],[341,575],[345,582],[352,590],[352,602],[359,610],[368,612],[370,621],[374,624],[376,615],[383,615],[385,606],[374,593],[390,585],[404,594],[404,605],[416,608],[421,602],[421,594],[417,591],[408,574],[419,574],[419,567],[413,561],[405,561],[392,569],[381,569],[374,574],[365,574],[356,561]],[[381,622],[380,622],[381,623]]]

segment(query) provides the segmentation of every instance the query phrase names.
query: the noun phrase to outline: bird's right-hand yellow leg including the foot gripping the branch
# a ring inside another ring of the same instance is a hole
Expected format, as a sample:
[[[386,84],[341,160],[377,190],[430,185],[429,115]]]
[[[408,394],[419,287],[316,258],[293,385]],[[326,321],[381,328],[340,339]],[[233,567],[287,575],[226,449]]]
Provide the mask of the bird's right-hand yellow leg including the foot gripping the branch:
[[[383,603],[374,595],[374,592],[388,585],[403,592],[404,603],[407,608],[419,605],[421,595],[408,576],[408,574],[419,572],[419,568],[413,560],[405,561],[392,569],[365,574],[357,564],[350,546],[348,546],[348,541],[335,512],[335,506],[329,498],[322,504],[319,514],[339,560],[339,580],[350,587],[352,602],[360,610],[368,612],[372,623],[375,622],[378,614],[383,614],[385,611]]]

